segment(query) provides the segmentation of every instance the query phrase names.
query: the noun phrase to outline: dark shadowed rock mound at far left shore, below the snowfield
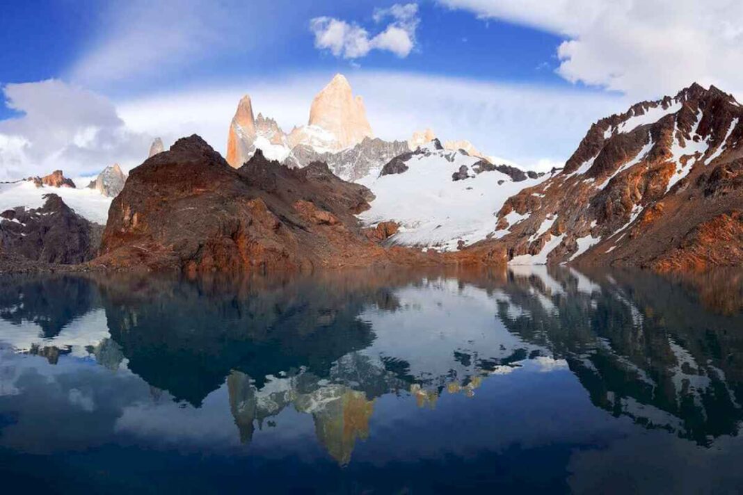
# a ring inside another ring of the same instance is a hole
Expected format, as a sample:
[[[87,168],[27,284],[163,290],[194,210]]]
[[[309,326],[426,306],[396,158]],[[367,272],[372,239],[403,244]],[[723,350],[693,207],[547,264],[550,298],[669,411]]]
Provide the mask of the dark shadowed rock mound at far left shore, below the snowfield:
[[[0,214],[0,247],[42,263],[74,264],[97,254],[103,227],[80,217],[56,194],[45,194],[44,206],[19,206]]]

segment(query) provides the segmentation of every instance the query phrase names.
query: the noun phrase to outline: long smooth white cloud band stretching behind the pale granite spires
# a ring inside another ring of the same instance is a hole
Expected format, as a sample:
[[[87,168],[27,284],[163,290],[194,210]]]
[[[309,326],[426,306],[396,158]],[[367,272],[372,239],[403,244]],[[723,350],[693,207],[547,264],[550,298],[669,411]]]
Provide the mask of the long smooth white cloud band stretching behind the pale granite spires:
[[[332,76],[306,73],[280,82],[199,88],[120,102],[117,110],[136,131],[166,142],[196,133],[224,154],[230,119],[245,92],[256,114],[275,118],[288,131],[307,122],[312,98]],[[443,76],[357,71],[348,79],[383,139],[406,140],[431,127],[442,140],[467,139],[484,153],[539,170],[562,166],[592,122],[629,106],[616,94]]]

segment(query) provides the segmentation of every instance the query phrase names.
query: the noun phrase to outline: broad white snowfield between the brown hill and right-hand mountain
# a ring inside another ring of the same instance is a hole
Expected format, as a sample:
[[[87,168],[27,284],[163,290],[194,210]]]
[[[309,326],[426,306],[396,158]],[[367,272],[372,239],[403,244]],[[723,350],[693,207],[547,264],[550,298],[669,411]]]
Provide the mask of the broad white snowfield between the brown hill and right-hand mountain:
[[[457,249],[460,240],[471,244],[504,235],[496,232],[496,212],[508,197],[543,180],[516,182],[501,171],[483,170],[478,157],[437,149],[433,143],[395,160],[407,169],[358,181],[376,197],[359,217],[369,225],[399,223],[392,242],[406,246],[448,251]],[[464,171],[467,178],[454,180],[453,174]]]

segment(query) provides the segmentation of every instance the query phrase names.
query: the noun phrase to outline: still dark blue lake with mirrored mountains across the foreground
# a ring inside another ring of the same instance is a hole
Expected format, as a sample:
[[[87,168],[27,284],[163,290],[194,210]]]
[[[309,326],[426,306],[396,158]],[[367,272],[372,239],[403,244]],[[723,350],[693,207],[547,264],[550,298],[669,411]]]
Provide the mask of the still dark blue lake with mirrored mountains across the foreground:
[[[517,268],[0,278],[3,491],[742,490],[743,273]]]

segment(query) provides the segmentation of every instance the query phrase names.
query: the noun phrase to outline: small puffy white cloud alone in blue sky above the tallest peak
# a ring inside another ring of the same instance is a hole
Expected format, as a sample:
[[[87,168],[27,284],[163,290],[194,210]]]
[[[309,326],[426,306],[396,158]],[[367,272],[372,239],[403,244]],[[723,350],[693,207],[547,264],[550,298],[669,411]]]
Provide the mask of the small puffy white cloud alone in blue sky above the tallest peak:
[[[415,30],[418,29],[418,4],[395,4],[386,9],[374,10],[376,24],[389,22],[375,36],[359,24],[348,23],[333,17],[316,17],[310,21],[315,36],[315,47],[329,50],[334,56],[358,59],[371,50],[386,50],[405,58],[415,47]]]

